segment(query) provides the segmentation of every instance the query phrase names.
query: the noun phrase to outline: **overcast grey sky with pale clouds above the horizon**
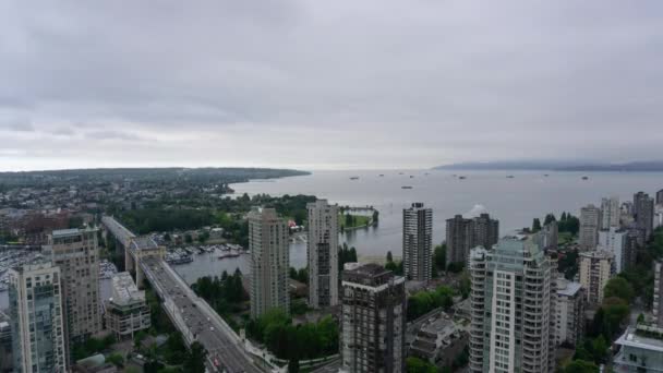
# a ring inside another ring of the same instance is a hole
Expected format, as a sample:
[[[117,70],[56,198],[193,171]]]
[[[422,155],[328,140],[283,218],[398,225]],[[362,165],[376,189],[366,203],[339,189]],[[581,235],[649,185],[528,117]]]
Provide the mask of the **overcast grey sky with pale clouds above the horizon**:
[[[0,2],[0,170],[663,159],[663,2]]]

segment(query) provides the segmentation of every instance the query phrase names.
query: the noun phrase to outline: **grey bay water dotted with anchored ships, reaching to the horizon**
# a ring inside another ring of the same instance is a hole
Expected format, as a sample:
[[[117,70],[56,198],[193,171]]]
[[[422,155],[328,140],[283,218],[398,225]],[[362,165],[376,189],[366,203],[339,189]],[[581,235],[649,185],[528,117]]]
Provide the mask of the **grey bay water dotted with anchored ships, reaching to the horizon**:
[[[381,177],[379,175],[384,175]],[[545,175],[549,175],[547,177]],[[465,180],[458,177],[465,176]],[[513,178],[507,178],[513,176]],[[587,176],[588,180],[582,180]],[[351,180],[351,177],[359,177]],[[401,186],[412,186],[402,189]],[[562,212],[579,215],[581,206],[601,205],[601,197],[616,195],[632,201],[644,191],[663,189],[660,172],[552,172],[552,171],[316,171],[310,176],[255,180],[232,184],[237,195],[312,194],[332,203],[374,206],[379,212],[375,228],[343,233],[341,242],[355,246],[360,258],[384,257],[387,251],[400,256],[402,209],[414,202],[433,208],[433,239],[445,239],[445,220],[456,214],[482,212],[499,220],[501,234],[531,226],[532,219]],[[304,261],[300,261],[303,253]],[[305,244],[291,244],[291,262],[305,265]]]

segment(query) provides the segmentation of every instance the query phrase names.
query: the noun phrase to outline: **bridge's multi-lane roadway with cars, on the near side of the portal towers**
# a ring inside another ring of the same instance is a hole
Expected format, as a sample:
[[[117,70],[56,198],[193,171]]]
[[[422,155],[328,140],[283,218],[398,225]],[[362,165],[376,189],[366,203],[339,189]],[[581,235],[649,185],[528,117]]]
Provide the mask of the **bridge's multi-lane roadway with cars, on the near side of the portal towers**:
[[[166,294],[160,294],[164,300],[167,298],[172,300],[172,302],[166,302],[165,306],[173,306],[174,303],[174,306],[179,309],[188,327],[188,330],[181,330],[183,334],[189,333],[184,336],[185,339],[201,342],[207,350],[209,360],[217,369],[222,366],[220,371],[228,373],[263,372],[244,352],[241,342],[226,334],[224,329],[227,326],[220,325],[215,317],[205,315],[201,305],[202,300],[191,289],[182,289],[182,282],[172,278],[172,275],[166,268],[168,265],[166,262],[157,258],[146,258],[142,263],[145,265],[144,269],[149,270],[146,275],[153,282],[153,287],[159,293],[166,292]]]

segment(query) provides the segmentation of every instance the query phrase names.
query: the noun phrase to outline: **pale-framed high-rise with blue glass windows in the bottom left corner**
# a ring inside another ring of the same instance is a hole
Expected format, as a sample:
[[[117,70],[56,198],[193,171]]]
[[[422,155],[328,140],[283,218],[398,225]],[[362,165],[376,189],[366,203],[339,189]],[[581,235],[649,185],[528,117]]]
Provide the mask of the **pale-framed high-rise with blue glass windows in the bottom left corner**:
[[[9,269],[14,372],[68,371],[60,268],[35,263]]]

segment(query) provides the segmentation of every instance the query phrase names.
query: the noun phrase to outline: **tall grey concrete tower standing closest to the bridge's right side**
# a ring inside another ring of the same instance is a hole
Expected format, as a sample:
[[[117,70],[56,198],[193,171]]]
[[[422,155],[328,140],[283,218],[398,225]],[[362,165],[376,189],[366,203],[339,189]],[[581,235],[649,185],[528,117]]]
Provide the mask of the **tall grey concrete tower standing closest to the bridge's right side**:
[[[256,318],[270,309],[290,312],[288,272],[290,251],[288,225],[274,208],[254,208],[249,213],[251,250],[251,316]]]

